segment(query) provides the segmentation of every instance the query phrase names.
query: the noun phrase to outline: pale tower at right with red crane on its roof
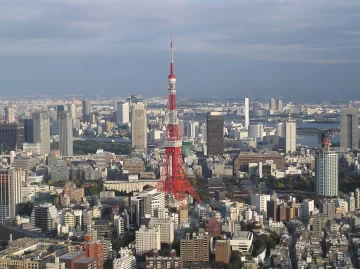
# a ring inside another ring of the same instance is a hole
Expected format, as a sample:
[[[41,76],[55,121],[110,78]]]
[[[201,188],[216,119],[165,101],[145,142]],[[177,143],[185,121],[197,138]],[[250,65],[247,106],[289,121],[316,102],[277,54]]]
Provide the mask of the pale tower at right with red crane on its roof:
[[[319,151],[315,156],[316,195],[338,195],[338,155],[334,151]]]

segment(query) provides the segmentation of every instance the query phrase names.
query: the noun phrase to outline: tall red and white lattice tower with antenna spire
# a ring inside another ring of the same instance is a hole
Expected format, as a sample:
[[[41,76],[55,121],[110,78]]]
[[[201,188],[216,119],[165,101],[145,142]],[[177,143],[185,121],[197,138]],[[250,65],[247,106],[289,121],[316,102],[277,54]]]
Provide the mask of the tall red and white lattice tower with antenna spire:
[[[191,195],[200,202],[199,196],[192,188],[184,168],[181,156],[182,142],[179,139],[179,126],[176,110],[176,76],[174,74],[173,47],[170,42],[170,75],[168,97],[168,124],[164,141],[165,155],[157,189],[184,205],[186,195]]]

